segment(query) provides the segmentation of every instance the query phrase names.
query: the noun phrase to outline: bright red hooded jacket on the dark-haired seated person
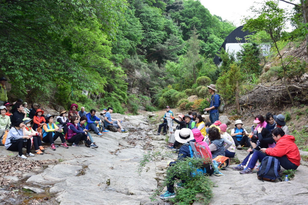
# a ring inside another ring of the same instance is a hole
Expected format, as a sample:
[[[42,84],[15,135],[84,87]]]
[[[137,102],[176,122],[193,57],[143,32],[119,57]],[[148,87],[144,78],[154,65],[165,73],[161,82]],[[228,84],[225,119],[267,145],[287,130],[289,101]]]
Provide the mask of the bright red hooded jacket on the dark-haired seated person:
[[[273,157],[282,157],[286,155],[290,162],[296,166],[299,166],[301,156],[294,141],[295,138],[292,135],[284,135],[276,142],[276,146],[274,148],[267,148],[265,153]]]

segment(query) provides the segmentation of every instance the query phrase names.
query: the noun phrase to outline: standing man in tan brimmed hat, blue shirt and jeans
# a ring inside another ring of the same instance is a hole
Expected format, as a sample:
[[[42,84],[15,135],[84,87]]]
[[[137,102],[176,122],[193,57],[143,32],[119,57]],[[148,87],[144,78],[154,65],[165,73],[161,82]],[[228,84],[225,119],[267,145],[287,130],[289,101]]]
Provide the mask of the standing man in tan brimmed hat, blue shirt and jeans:
[[[212,124],[214,124],[215,121],[218,120],[219,118],[219,112],[218,112],[218,107],[220,105],[220,97],[217,93],[215,93],[216,86],[213,84],[210,84],[207,86],[209,89],[209,93],[212,95],[211,100],[209,98],[206,99],[210,103],[209,108],[205,108],[206,111],[210,111],[210,121]]]

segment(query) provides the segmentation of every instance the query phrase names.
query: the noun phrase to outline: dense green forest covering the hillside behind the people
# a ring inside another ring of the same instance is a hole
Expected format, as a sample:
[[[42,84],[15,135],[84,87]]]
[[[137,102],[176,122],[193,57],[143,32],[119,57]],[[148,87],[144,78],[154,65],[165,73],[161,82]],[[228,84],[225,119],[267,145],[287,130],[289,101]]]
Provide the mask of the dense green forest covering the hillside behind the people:
[[[251,90],[247,83],[260,82],[262,68],[279,50],[307,35],[299,7],[286,14],[269,1],[252,12],[259,17],[243,20],[244,29],[255,32],[249,43],[238,53],[222,49],[217,67],[213,57],[236,27],[198,0],[2,1],[0,64],[11,83],[9,101],[112,106],[134,114],[167,104],[202,110],[206,101],[189,103],[187,97],[203,98],[205,85],[216,83],[232,103],[236,82],[242,94]],[[284,32],[287,20],[295,27],[290,33]],[[269,28],[269,22],[276,24]],[[266,77],[295,78],[294,68],[306,72],[305,62],[291,61],[284,66],[278,60]]]

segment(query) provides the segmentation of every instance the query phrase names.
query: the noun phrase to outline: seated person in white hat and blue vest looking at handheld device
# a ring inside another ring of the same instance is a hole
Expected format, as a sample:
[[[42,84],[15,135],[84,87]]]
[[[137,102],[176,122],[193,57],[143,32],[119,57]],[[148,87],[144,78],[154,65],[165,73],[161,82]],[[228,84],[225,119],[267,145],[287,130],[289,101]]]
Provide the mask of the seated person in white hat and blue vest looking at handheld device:
[[[237,149],[242,149],[245,143],[250,147],[250,142],[248,139],[249,133],[242,127],[243,122],[241,120],[235,121],[235,128],[231,130],[231,137],[233,138]]]

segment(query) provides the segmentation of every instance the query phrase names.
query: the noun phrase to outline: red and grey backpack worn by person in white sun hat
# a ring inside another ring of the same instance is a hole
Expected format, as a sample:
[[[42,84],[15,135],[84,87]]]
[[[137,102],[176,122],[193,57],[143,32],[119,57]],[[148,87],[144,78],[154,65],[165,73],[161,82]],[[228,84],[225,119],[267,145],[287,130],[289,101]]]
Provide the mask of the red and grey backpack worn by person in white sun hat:
[[[212,157],[205,146],[192,141],[186,142],[184,145],[190,145],[193,151],[193,158],[203,159],[203,164],[200,168],[206,168],[212,163]]]

